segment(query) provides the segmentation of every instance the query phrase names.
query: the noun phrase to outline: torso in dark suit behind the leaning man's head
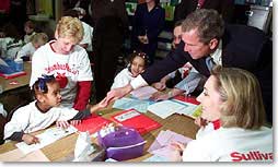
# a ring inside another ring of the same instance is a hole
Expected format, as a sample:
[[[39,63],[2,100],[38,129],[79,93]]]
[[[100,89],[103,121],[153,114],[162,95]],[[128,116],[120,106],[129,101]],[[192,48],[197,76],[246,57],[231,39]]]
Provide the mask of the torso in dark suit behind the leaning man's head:
[[[215,9],[227,23],[233,20],[234,0],[182,0],[175,7],[174,22],[184,20],[196,9]]]

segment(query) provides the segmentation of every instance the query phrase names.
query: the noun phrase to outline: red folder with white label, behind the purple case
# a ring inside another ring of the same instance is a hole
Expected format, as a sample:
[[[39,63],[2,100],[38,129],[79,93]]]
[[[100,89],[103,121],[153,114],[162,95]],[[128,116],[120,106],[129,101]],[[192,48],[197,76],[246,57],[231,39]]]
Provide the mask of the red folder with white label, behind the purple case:
[[[128,118],[128,114],[132,114],[132,116],[130,116],[131,118]],[[123,118],[125,120],[120,121],[119,118],[121,116],[127,117]],[[143,114],[138,112],[135,109],[124,110],[123,112],[112,116],[112,119],[121,126],[136,129],[140,134],[146,134],[147,132],[161,127],[159,122],[154,121]]]

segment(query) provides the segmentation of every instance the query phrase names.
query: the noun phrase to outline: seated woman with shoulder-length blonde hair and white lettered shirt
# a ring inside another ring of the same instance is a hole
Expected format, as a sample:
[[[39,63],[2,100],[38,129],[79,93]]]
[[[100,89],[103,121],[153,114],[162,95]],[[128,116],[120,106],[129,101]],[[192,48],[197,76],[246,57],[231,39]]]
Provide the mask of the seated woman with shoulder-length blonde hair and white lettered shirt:
[[[196,124],[201,128],[186,146],[173,143],[177,157],[184,162],[274,160],[273,129],[264,126],[259,83],[252,73],[217,67],[197,100],[202,114]]]

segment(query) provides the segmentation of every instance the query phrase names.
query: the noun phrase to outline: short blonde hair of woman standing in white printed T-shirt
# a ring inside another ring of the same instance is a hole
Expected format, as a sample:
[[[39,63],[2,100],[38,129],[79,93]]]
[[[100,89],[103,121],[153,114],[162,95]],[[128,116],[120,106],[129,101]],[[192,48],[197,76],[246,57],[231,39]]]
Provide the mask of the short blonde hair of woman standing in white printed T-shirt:
[[[84,29],[79,19],[62,16],[57,24],[56,33],[58,37],[72,38],[78,44],[83,38]]]

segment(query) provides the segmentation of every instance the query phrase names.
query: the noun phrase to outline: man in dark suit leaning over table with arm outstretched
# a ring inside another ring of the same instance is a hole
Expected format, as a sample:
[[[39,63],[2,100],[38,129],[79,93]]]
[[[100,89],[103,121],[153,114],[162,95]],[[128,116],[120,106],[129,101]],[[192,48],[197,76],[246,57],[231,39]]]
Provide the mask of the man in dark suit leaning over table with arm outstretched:
[[[107,100],[159,81],[186,62],[201,74],[210,75],[212,64],[235,67],[252,72],[260,83],[267,120],[273,122],[273,43],[259,29],[245,25],[227,25],[215,10],[197,10],[182,25],[183,36],[177,48],[165,59],[148,68],[129,85],[112,90]]]

